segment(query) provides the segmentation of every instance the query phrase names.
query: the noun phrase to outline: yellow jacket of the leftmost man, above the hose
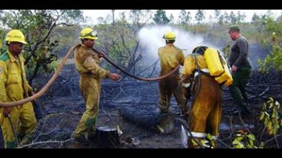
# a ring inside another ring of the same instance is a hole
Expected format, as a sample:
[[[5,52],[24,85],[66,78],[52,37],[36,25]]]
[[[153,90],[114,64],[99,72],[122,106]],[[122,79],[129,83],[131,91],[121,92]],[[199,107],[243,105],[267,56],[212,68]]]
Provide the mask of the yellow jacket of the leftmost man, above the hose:
[[[23,100],[32,91],[25,76],[25,59],[18,60],[7,50],[0,56],[0,102]]]

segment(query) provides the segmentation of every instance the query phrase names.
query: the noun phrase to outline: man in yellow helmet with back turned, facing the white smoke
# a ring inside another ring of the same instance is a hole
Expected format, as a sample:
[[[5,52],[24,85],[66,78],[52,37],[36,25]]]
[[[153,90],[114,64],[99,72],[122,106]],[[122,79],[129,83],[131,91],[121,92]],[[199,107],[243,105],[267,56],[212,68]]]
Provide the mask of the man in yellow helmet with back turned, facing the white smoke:
[[[158,55],[160,56],[160,76],[164,76],[171,72],[177,65],[184,64],[184,54],[182,49],[176,47],[173,43],[175,43],[175,34],[173,32],[166,32],[164,34],[164,40],[166,41],[166,45],[164,47],[160,47],[158,49]],[[160,113],[166,114],[169,113],[169,106],[171,102],[171,95],[173,94],[178,106],[182,111],[182,115],[186,116],[188,113],[188,108],[185,104],[185,96],[184,96],[184,88],[181,87],[177,91],[178,85],[181,84],[180,73],[173,74],[169,78],[164,80],[160,80]],[[163,128],[162,126],[158,126],[158,128]]]

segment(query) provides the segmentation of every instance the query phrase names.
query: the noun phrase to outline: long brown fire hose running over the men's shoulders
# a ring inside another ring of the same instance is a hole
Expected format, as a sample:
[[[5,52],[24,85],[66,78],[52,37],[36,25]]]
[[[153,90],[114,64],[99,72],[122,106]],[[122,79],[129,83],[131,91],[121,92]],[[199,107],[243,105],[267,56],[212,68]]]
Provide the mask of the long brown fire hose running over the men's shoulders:
[[[60,73],[60,71],[63,69],[63,65],[65,65],[65,63],[67,61],[67,58],[69,58],[69,56],[72,54],[74,49],[76,49],[76,47],[78,47],[79,45],[75,45],[75,46],[71,47],[71,49],[69,49],[69,51],[67,52],[67,54],[65,55],[65,57],[61,61],[60,65],[58,66],[58,69],[56,69],[55,74],[52,76],[52,78],[47,82],[47,84],[45,84],[45,86],[38,93],[35,93],[34,95],[32,95],[32,96],[30,96],[28,98],[25,98],[23,100],[19,100],[19,101],[16,101],[16,102],[0,102],[0,108],[1,107],[7,108],[7,107],[12,107],[12,106],[23,105],[23,104],[25,104],[27,102],[31,102],[32,100],[36,100],[36,99],[40,98],[42,95],[44,95],[44,93],[50,88],[50,86],[56,80],[56,78],[58,77],[58,74]],[[116,69],[119,69],[124,74],[127,74],[127,76],[130,76],[131,78],[135,78],[137,80],[144,80],[144,81],[162,80],[162,79],[167,78],[167,77],[171,76],[172,74],[174,74],[175,71],[177,71],[178,68],[180,67],[180,65],[177,65],[177,67],[175,67],[175,69],[173,69],[173,71],[171,71],[169,74],[166,74],[164,76],[160,76],[158,78],[140,78],[140,77],[137,77],[137,76],[133,76],[132,74],[127,73],[127,71],[124,71],[124,69],[118,67],[118,65],[113,63],[111,61],[111,59],[109,57],[107,57],[104,53],[99,52],[97,49],[94,49],[94,48],[93,48],[93,50],[94,50],[94,52],[97,52],[98,54],[100,54],[100,56],[102,58],[105,58],[105,60],[107,60],[107,62],[109,62],[111,65],[113,65],[113,67],[116,67]]]

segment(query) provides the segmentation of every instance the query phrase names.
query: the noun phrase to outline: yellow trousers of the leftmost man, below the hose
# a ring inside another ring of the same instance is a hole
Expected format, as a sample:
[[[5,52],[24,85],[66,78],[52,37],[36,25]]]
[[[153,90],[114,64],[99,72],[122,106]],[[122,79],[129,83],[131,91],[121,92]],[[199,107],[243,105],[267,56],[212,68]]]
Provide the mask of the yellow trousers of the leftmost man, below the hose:
[[[0,124],[5,142],[5,148],[14,148],[17,146],[17,142],[12,132],[11,124],[8,120],[8,117],[3,116],[3,109],[1,109],[0,112]],[[23,106],[12,107],[10,109],[10,117],[14,131],[18,135],[30,134],[36,126],[36,118],[31,102],[23,104]]]

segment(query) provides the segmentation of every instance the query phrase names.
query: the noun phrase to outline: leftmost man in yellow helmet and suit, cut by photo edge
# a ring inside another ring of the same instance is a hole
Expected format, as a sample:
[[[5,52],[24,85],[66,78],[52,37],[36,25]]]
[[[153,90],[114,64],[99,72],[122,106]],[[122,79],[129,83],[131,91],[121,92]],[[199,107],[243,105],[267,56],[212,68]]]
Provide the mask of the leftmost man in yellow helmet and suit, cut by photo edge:
[[[23,44],[28,43],[20,30],[11,30],[6,36],[6,44],[8,49],[0,56],[0,102],[14,102],[34,94],[25,77],[25,59],[21,55]],[[13,128],[15,133],[23,136],[31,133],[36,126],[32,103],[3,108],[0,111],[5,147],[14,148],[17,142]]]

